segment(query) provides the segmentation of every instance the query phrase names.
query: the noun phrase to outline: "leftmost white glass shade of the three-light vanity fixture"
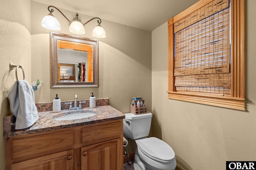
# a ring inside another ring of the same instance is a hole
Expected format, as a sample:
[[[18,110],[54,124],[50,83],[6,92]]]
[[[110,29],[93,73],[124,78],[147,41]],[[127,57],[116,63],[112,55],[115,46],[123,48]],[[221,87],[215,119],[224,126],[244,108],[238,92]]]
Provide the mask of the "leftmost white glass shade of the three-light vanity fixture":
[[[50,30],[60,30],[59,21],[52,15],[52,13],[45,16],[41,21],[42,27]]]

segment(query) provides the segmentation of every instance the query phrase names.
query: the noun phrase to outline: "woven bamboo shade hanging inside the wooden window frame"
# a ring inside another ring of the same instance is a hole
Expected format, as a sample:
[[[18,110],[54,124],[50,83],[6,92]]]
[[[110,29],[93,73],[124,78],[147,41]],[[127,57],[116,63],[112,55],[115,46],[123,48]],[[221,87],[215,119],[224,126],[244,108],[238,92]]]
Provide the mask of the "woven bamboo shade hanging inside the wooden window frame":
[[[215,0],[174,24],[177,91],[230,94],[229,9]]]

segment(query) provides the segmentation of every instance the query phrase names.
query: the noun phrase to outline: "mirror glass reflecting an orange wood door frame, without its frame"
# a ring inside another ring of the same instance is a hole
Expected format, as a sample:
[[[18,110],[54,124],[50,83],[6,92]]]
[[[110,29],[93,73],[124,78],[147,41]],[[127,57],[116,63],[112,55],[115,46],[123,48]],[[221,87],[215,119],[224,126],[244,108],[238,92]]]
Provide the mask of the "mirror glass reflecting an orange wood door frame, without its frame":
[[[58,82],[93,82],[92,52],[93,45],[59,40]]]

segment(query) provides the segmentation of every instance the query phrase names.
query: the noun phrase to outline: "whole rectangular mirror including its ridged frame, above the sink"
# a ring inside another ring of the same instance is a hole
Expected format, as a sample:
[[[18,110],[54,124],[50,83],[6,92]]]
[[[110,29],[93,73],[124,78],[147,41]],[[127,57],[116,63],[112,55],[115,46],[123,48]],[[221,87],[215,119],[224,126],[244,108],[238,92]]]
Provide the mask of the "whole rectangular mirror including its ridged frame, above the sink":
[[[50,32],[51,88],[98,87],[98,40]]]

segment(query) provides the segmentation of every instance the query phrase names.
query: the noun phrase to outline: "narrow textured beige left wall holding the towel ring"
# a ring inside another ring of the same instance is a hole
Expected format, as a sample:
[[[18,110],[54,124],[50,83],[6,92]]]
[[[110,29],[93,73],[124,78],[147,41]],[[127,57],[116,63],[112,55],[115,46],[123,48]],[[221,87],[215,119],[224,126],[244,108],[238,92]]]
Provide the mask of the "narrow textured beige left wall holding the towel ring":
[[[3,117],[9,114],[7,94],[16,81],[15,70],[9,71],[9,63],[20,64],[25,79],[30,82],[30,1],[0,0],[0,167],[5,167],[5,142]],[[18,78],[22,79],[18,70]]]

